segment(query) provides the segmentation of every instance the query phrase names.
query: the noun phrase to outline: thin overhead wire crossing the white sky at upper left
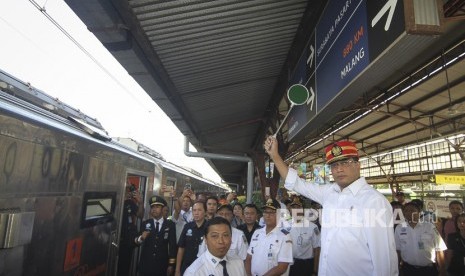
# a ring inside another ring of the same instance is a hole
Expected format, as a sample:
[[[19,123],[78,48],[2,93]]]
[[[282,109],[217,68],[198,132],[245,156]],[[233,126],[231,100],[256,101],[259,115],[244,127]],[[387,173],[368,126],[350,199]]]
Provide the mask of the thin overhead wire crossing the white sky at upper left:
[[[71,40],[71,42],[73,42],[79,48],[79,50],[81,50],[100,69],[102,69],[103,72],[105,72],[105,74],[107,74],[113,81],[115,81],[119,87],[121,87],[129,96],[131,96],[131,98],[133,98],[136,102],[138,102],[144,109],[147,109],[149,112],[151,112],[150,108],[147,108],[139,99],[137,99],[131,93],[131,91],[129,91],[129,89],[127,89],[115,76],[111,74],[110,71],[108,71],[105,68],[105,66],[103,66],[91,53],[89,53],[89,51],[86,50],[86,48],[84,48],[84,46],[82,46],[76,39],[74,39],[74,37],[71,34],[69,34],[55,19],[53,19],[53,17],[50,14],[47,13],[47,11],[45,10],[45,4],[44,4],[44,7],[41,7],[34,0],[29,0],[29,2],[31,2],[31,4],[34,5],[34,7],[36,7],[50,22],[52,22],[52,24],[55,25],[55,27],[57,27],[58,30],[60,30],[69,40]]]

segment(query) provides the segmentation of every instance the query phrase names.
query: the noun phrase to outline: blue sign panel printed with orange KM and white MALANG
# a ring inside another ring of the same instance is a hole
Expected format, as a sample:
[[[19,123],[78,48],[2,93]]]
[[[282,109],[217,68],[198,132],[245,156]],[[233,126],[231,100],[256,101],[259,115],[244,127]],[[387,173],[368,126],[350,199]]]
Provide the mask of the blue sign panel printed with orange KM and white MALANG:
[[[365,1],[339,3],[344,5],[327,10],[327,19],[316,29],[319,107],[328,104],[370,64]]]

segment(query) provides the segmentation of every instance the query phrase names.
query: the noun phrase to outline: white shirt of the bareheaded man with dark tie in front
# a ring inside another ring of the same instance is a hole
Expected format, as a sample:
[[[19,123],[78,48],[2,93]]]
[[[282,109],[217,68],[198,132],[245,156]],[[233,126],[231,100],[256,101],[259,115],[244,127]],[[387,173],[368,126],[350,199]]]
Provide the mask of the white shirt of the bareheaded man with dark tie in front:
[[[184,276],[223,276],[222,260],[226,260],[226,270],[230,276],[246,275],[241,259],[229,256],[219,259],[207,250],[186,269]]]

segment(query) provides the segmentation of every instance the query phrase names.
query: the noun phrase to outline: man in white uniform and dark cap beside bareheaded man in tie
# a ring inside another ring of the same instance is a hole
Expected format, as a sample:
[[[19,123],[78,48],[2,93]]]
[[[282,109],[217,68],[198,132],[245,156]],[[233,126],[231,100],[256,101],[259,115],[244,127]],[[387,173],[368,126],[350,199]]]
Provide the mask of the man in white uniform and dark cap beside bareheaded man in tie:
[[[289,275],[289,265],[293,263],[292,239],[287,231],[277,226],[280,207],[281,204],[271,198],[263,206],[265,227],[252,235],[245,260],[248,276]]]

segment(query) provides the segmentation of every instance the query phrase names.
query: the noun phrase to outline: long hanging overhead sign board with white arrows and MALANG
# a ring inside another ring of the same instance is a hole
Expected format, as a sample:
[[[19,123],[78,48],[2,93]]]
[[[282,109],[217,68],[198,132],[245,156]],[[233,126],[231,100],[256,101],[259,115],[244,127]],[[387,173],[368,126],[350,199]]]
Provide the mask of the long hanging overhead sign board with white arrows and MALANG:
[[[344,93],[404,32],[402,0],[328,1],[291,77],[290,85],[305,84],[314,99],[311,106],[293,111],[289,138]]]

